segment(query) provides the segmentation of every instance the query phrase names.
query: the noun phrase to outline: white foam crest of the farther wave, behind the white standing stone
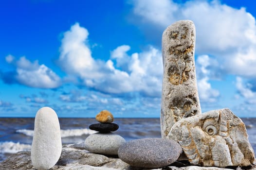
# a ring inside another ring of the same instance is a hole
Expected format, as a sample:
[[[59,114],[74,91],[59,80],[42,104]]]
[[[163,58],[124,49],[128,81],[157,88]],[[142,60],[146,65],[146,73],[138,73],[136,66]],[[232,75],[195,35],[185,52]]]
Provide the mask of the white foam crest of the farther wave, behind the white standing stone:
[[[34,130],[29,129],[19,129],[16,131],[17,133],[24,134],[26,136],[33,136]],[[67,130],[60,130],[61,137],[69,137],[69,136],[82,136],[82,135],[91,135],[96,133],[91,129],[67,129]]]

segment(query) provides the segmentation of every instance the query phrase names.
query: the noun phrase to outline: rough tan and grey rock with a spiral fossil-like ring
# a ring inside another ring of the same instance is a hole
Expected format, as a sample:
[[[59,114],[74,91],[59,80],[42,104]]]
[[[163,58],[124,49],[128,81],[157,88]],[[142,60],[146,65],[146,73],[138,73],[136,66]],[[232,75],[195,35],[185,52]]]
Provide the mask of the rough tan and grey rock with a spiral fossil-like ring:
[[[249,166],[255,160],[244,123],[229,109],[182,119],[167,138],[180,143],[192,165]]]

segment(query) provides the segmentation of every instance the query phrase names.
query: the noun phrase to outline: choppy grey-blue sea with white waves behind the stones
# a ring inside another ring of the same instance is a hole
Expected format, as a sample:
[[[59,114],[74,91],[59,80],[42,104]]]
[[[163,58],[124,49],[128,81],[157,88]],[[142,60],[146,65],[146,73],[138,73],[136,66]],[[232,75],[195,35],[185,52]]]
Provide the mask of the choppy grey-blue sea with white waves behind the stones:
[[[256,151],[256,118],[241,118],[246,125],[249,141]],[[0,162],[19,151],[31,150],[34,118],[0,118]],[[94,118],[59,118],[62,144],[83,142],[95,133],[89,126]],[[116,118],[119,129],[113,133],[130,141],[146,137],[161,137],[160,118]]]

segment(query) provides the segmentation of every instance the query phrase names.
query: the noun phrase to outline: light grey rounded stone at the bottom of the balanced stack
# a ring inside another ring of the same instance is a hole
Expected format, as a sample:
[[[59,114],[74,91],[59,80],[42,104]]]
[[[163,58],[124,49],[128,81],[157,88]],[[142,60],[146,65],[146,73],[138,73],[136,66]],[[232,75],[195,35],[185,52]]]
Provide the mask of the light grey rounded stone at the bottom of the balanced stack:
[[[117,155],[118,149],[125,143],[125,139],[113,133],[96,133],[85,139],[85,149],[91,153]]]

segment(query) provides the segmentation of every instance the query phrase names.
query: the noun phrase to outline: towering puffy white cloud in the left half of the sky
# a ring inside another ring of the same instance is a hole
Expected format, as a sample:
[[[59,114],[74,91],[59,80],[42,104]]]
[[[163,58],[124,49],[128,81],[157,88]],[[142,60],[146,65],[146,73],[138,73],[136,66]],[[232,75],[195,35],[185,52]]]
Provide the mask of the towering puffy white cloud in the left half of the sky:
[[[91,50],[85,44],[88,35],[87,29],[80,27],[78,23],[64,33],[59,56],[60,67],[64,71],[90,76],[89,72],[94,69],[95,61],[91,57]]]

